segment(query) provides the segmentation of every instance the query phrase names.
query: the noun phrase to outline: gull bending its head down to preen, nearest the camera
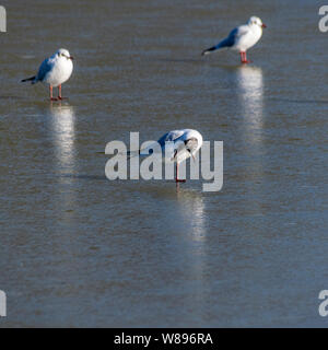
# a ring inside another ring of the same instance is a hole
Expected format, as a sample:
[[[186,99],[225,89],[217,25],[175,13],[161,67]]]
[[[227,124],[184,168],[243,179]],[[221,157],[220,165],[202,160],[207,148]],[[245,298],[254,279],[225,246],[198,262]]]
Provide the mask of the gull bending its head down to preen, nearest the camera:
[[[168,142],[168,143],[166,143]],[[164,162],[176,163],[176,183],[185,183],[186,179],[178,178],[178,165],[188,158],[196,159],[196,153],[202,145],[202,136],[197,130],[181,129],[173,130],[164,133],[157,143],[161,147],[162,154],[164,153]],[[148,155],[153,152],[154,145],[151,144],[142,150],[136,152],[128,152],[128,155],[134,156],[137,154]]]

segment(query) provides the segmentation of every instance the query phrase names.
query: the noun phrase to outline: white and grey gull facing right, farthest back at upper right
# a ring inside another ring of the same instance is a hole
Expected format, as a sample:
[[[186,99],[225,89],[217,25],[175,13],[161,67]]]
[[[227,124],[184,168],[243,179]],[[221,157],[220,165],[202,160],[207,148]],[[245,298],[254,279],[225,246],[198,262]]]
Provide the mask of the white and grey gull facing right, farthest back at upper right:
[[[239,50],[242,63],[249,63],[246,51],[260,39],[262,28],[266,27],[266,24],[259,18],[251,16],[246,24],[234,28],[225,39],[216,46],[203,50],[201,55],[208,55],[219,48],[227,47],[233,50]]]

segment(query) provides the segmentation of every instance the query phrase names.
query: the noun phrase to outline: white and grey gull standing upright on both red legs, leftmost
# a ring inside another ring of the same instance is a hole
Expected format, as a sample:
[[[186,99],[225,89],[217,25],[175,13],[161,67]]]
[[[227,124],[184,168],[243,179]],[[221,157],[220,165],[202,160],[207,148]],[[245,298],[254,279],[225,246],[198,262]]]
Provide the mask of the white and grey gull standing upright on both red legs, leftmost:
[[[61,84],[63,84],[72,74],[73,71],[73,57],[70,52],[60,48],[51,57],[46,58],[36,75],[23,79],[22,82],[31,81],[32,84],[43,82],[49,84],[50,101],[63,100],[61,96]],[[52,97],[52,88],[58,86],[58,98]]]

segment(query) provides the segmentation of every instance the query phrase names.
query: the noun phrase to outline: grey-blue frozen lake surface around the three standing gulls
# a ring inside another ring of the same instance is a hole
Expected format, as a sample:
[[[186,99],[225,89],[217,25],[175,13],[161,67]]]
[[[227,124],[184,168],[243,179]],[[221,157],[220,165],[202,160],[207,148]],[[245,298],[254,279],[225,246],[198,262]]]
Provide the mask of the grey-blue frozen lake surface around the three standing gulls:
[[[327,39],[314,0],[2,1],[1,326],[327,326]],[[238,54],[201,57],[251,14]],[[20,83],[59,47],[69,101]],[[194,128],[224,185],[109,182],[107,142]]]

